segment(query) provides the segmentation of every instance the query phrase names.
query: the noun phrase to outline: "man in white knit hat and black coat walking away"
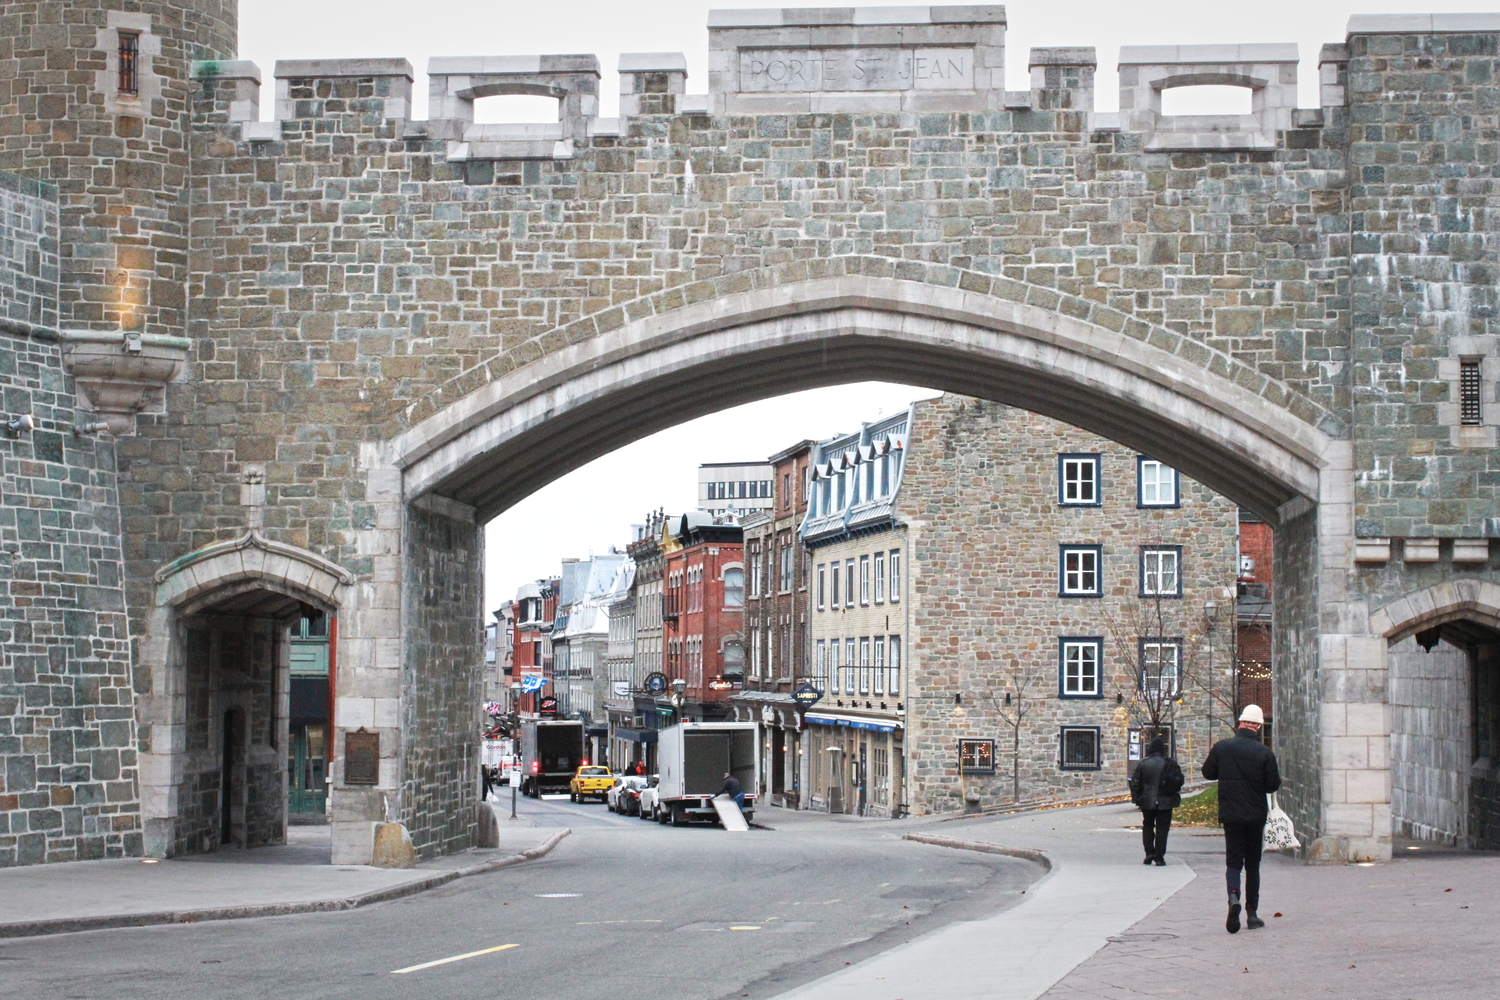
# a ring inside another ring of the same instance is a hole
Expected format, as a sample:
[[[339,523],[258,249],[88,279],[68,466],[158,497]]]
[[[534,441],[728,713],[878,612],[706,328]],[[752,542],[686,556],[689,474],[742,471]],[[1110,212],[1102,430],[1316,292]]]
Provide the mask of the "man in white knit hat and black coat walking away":
[[[1224,826],[1224,880],[1228,885],[1228,919],[1224,930],[1239,933],[1239,873],[1245,870],[1245,925],[1266,925],[1260,906],[1260,846],[1266,829],[1266,796],[1281,787],[1276,756],[1260,742],[1266,717],[1258,705],[1239,714],[1239,729],[1209,750],[1203,777],[1220,783],[1220,823]]]

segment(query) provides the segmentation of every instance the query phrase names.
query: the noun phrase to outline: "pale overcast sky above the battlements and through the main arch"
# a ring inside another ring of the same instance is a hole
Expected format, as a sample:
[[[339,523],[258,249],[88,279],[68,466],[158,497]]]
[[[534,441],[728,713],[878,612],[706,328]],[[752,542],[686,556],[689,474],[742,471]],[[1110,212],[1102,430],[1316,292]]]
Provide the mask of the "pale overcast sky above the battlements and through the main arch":
[[[270,118],[278,58],[405,55],[417,70],[414,117],[424,118],[424,70],[432,55],[594,52],[603,69],[602,114],[614,117],[620,106],[615,67],[621,52],[681,51],[687,55],[688,93],[704,93],[706,12],[732,6],[830,4],[240,0],[240,58],[261,66],[261,115]],[[1420,0],[1028,0],[1005,6],[1006,87],[1029,88],[1026,54],[1034,45],[1092,45],[1100,60],[1095,81],[1100,111],[1119,108],[1114,61],[1120,45],[1230,42],[1296,42],[1302,55],[1300,105],[1316,108],[1318,48],[1344,40],[1350,13],[1431,9]],[[1496,0],[1440,0],[1437,6],[1452,12],[1492,10]],[[480,102],[480,118],[519,121],[552,114],[536,99],[522,106],[526,103],[492,97]],[[490,522],[486,609],[494,610],[504,597],[514,595],[519,583],[555,573],[562,556],[622,546],[630,538],[630,525],[648,510],[664,507],[678,513],[692,505],[699,462],[764,459],[802,438],[854,429],[861,420],[874,420],[922,394],[920,388],[873,382],[798,393],[694,420],[584,466]]]

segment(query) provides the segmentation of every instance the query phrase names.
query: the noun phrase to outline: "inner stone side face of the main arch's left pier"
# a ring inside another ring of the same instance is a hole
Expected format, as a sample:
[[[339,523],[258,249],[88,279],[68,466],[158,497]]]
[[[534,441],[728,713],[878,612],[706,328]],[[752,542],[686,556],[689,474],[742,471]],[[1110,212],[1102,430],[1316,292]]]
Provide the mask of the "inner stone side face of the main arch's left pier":
[[[399,822],[422,858],[474,846],[477,832],[484,531],[472,511],[426,501],[406,511],[400,655]]]

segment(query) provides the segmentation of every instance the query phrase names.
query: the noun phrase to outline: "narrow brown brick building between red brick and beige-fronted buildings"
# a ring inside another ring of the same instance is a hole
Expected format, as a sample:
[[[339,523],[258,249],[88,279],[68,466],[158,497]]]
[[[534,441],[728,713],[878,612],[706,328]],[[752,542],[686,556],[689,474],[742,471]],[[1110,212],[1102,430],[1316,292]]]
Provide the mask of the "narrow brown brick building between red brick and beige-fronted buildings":
[[[762,726],[765,799],[796,808],[802,787],[802,721],[792,697],[807,673],[807,552],[798,528],[807,513],[812,441],[770,457],[771,507],[741,519],[746,538],[744,688],[730,696],[735,718]]]

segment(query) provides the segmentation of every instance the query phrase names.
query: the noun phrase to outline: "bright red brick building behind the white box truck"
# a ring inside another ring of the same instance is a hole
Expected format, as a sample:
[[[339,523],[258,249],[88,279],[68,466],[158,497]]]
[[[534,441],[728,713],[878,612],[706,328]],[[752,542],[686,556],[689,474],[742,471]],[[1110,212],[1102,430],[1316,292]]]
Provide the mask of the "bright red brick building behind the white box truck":
[[[744,535],[688,511],[663,544],[663,658],[669,679],[687,688],[678,718],[729,717],[729,693],[744,681]]]

